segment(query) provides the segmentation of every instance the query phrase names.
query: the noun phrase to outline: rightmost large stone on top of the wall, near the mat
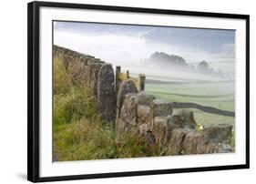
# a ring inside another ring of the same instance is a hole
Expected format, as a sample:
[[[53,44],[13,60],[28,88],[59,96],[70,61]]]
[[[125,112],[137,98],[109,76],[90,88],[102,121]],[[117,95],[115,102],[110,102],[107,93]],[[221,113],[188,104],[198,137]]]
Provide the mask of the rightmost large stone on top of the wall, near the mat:
[[[210,142],[230,144],[232,137],[232,125],[214,124],[203,129],[204,138]]]

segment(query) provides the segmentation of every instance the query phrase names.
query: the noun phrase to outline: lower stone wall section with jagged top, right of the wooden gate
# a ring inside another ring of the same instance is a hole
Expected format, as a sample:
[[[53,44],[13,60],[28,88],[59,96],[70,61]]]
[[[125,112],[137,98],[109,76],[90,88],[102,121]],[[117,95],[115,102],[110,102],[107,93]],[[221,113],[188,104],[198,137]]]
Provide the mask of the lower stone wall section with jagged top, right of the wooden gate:
[[[216,124],[202,131],[196,129],[192,111],[172,114],[172,103],[153,95],[136,91],[134,84],[120,85],[116,130],[118,137],[125,132],[138,134],[148,144],[168,148],[166,155],[189,155],[231,152],[232,126]],[[130,92],[129,92],[130,91]]]

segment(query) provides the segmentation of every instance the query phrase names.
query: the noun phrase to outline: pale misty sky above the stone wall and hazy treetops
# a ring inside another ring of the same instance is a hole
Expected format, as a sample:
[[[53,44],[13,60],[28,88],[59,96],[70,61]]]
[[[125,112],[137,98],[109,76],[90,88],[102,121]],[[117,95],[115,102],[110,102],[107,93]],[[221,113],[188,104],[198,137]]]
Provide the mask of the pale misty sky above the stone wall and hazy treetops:
[[[178,55],[188,63],[205,60],[234,72],[235,31],[170,26],[54,22],[54,44],[121,66],[139,66],[154,52]]]

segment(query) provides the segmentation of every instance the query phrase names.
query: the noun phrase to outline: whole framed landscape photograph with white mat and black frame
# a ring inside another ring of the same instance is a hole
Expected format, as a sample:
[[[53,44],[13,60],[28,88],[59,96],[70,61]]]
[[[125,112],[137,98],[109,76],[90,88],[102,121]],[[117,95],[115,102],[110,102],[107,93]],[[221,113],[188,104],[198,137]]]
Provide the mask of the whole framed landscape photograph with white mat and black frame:
[[[249,18],[29,3],[28,180],[249,169]]]

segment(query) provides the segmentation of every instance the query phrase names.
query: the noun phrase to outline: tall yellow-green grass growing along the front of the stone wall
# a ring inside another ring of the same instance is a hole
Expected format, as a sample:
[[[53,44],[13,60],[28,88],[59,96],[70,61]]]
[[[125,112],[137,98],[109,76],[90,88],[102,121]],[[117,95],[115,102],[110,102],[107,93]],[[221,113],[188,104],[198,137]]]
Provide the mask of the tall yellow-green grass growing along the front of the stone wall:
[[[164,148],[115,131],[97,113],[97,100],[54,58],[54,155],[58,161],[161,156]]]

